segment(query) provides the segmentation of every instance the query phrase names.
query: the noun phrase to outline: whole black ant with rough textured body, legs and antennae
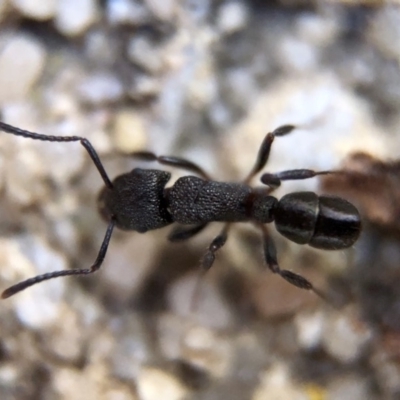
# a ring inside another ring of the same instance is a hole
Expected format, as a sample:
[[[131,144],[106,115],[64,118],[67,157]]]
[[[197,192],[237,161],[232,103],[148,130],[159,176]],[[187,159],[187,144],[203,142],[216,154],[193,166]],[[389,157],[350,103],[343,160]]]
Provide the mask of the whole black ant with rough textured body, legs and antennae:
[[[277,230],[287,239],[299,244],[325,250],[344,249],[357,240],[361,221],[357,209],[348,201],[333,196],[318,196],[313,192],[289,193],[277,200],[270,196],[282,181],[308,179],[340,171],[315,172],[294,169],[275,174],[265,173],[265,187],[253,188],[251,179],[266,165],[272,142],[295,129],[283,125],[268,133],[258,152],[256,162],[243,182],[216,182],[196,164],[178,157],[157,156],[151,152],[136,152],[132,156],[143,161],[181,168],[197,176],[184,176],[171,187],[165,187],[171,174],[157,169],[135,168],[111,181],[91,143],[80,136],[50,136],[29,132],[0,122],[0,130],[17,136],[50,142],[80,142],[99,171],[105,187],[98,198],[102,217],[108,228],[94,264],[87,269],[49,272],[17,283],[6,289],[1,297],[10,297],[36,283],[69,275],[96,272],[107,253],[115,226],[140,233],[179,223],[168,236],[171,242],[187,240],[202,231],[210,222],[224,222],[220,234],[211,242],[201,261],[202,271],[211,268],[216,252],[225,244],[233,222],[253,222],[263,235],[264,256],[269,269],[301,289],[313,290],[313,285],[301,275],[281,269],[276,249],[265,224],[275,221]],[[189,225],[189,227],[184,227]]]

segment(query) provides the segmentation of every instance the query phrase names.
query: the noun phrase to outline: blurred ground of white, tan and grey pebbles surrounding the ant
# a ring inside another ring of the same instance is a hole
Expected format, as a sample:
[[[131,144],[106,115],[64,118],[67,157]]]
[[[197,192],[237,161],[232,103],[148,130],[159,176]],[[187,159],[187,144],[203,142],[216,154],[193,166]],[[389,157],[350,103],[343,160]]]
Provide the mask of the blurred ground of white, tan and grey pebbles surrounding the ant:
[[[282,124],[269,172],[344,169],[295,190],[352,201],[346,251],[236,224],[190,307],[220,224],[115,231],[101,270],[0,303],[2,400],[400,399],[400,8],[374,0],[1,0],[1,120],[88,138],[114,177],[148,149],[243,179]],[[163,168],[164,169],[164,168]],[[182,176],[173,171],[173,179]],[[254,182],[257,182],[258,177]],[[171,183],[173,180],[171,180]],[[79,143],[0,134],[1,290],[92,264],[102,180]]]

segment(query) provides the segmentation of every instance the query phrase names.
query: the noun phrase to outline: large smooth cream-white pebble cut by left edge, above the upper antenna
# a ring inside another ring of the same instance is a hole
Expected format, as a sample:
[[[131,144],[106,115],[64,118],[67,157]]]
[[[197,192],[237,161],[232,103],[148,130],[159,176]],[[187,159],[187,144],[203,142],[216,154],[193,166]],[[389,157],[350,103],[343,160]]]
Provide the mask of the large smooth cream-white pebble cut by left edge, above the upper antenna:
[[[9,37],[0,46],[0,104],[4,104],[26,96],[43,72],[46,51],[26,35]]]

